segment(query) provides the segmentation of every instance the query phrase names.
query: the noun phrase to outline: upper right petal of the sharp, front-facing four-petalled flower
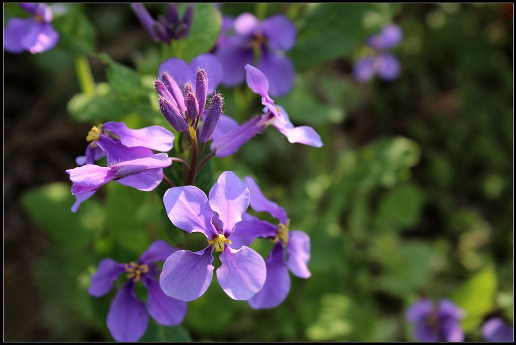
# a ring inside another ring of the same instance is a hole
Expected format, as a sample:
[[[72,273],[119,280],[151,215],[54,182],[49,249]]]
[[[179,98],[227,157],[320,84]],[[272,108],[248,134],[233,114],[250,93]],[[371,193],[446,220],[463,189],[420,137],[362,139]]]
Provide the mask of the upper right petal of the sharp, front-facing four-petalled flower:
[[[220,174],[208,194],[209,206],[219,215],[223,224],[224,236],[229,237],[235,224],[249,207],[249,189],[232,171]]]

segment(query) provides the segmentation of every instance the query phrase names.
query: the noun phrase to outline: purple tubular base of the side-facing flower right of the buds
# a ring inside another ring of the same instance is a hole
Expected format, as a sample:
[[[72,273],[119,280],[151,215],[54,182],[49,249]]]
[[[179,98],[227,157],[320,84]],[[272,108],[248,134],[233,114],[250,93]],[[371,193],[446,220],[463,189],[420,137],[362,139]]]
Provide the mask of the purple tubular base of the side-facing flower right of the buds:
[[[243,125],[238,126],[234,130],[219,136],[212,142],[210,146],[215,151],[217,158],[228,157],[238,151],[240,146],[247,143],[253,136],[260,133],[265,128],[270,119],[270,114],[263,114],[250,119]]]

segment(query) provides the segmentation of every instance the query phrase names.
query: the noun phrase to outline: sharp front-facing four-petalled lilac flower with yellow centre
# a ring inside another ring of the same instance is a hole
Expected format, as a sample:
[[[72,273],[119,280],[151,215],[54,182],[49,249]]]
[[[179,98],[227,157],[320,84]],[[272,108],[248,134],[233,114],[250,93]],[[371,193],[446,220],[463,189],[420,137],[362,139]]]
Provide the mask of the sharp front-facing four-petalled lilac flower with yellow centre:
[[[209,191],[208,198],[195,186],[172,187],[163,197],[168,217],[176,227],[206,236],[208,247],[198,252],[172,254],[159,277],[165,294],[192,301],[200,297],[212,281],[212,252],[221,252],[217,281],[229,297],[248,300],[265,282],[265,263],[248,247],[232,248],[231,236],[249,206],[249,189],[231,171],[223,172]]]

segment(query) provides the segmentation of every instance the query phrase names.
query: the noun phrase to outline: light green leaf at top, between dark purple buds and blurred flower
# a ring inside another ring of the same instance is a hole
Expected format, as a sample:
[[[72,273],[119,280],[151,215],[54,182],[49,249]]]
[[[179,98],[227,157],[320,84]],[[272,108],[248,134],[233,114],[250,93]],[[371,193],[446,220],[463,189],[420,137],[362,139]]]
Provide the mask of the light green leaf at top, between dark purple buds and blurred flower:
[[[186,6],[180,6],[184,12]],[[172,42],[177,45],[174,48],[176,56],[189,62],[200,54],[211,50],[220,32],[222,15],[213,4],[195,4],[193,21],[188,37]]]

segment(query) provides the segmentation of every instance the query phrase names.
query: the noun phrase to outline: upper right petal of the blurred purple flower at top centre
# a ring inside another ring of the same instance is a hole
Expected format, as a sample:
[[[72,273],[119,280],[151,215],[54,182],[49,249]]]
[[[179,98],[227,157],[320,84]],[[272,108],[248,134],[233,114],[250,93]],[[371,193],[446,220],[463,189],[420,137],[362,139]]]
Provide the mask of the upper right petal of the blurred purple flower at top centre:
[[[267,18],[263,21],[262,28],[272,49],[287,51],[296,44],[296,26],[283,14]],[[270,93],[273,94],[272,89]]]

